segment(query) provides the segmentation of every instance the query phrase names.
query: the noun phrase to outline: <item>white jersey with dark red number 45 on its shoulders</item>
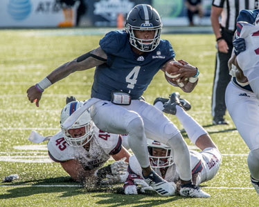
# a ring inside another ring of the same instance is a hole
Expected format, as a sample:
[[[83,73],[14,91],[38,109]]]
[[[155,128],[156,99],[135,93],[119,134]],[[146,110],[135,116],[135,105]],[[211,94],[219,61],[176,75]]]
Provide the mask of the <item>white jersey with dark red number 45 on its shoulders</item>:
[[[102,166],[110,155],[116,155],[121,143],[120,135],[109,134],[93,126],[93,138],[89,141],[89,150],[86,150],[83,146],[69,146],[60,131],[48,141],[48,155],[56,162],[77,159],[85,170],[92,170]]]

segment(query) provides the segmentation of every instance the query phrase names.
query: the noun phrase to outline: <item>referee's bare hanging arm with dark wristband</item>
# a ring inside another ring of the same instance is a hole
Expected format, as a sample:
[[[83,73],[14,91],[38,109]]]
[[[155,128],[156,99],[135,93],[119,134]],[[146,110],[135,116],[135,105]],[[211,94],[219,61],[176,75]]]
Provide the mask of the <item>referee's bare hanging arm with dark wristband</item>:
[[[222,34],[220,32],[220,15],[222,13],[223,8],[217,6],[211,6],[211,26],[213,28],[213,32],[217,39],[217,49],[220,52],[227,53],[229,51],[229,46],[226,41],[223,39]]]

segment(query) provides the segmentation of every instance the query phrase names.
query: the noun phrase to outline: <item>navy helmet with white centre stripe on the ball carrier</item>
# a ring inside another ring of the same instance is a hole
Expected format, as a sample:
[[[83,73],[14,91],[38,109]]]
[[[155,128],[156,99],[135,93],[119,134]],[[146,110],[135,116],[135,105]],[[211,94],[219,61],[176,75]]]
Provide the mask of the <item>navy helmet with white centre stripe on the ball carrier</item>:
[[[126,31],[130,34],[130,44],[143,52],[154,50],[159,45],[162,25],[159,13],[152,6],[148,4],[134,6],[126,19]],[[136,38],[134,30],[154,30],[154,38]],[[147,41],[149,43],[146,43]]]

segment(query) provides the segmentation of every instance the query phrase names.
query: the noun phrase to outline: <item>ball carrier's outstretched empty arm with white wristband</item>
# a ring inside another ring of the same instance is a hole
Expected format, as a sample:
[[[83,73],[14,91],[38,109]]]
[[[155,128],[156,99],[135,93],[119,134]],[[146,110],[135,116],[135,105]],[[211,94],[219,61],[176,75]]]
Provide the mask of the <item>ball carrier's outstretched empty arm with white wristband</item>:
[[[96,48],[86,54],[64,63],[62,66],[53,70],[47,77],[39,81],[35,86],[30,86],[27,90],[27,96],[31,103],[36,99],[36,106],[39,106],[39,100],[42,98],[42,92],[53,83],[64,79],[75,71],[82,71],[100,66],[107,61],[107,55],[100,48]]]

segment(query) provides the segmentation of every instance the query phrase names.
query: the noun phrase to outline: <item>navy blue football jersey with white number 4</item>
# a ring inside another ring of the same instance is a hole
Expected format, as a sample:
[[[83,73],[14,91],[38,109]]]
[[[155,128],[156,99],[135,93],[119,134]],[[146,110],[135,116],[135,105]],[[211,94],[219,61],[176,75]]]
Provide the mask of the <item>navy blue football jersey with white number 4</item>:
[[[112,31],[100,40],[107,62],[96,67],[91,97],[111,100],[112,91],[127,92],[139,99],[159,69],[175,57],[169,41],[161,39],[152,52],[133,52],[125,30]]]

